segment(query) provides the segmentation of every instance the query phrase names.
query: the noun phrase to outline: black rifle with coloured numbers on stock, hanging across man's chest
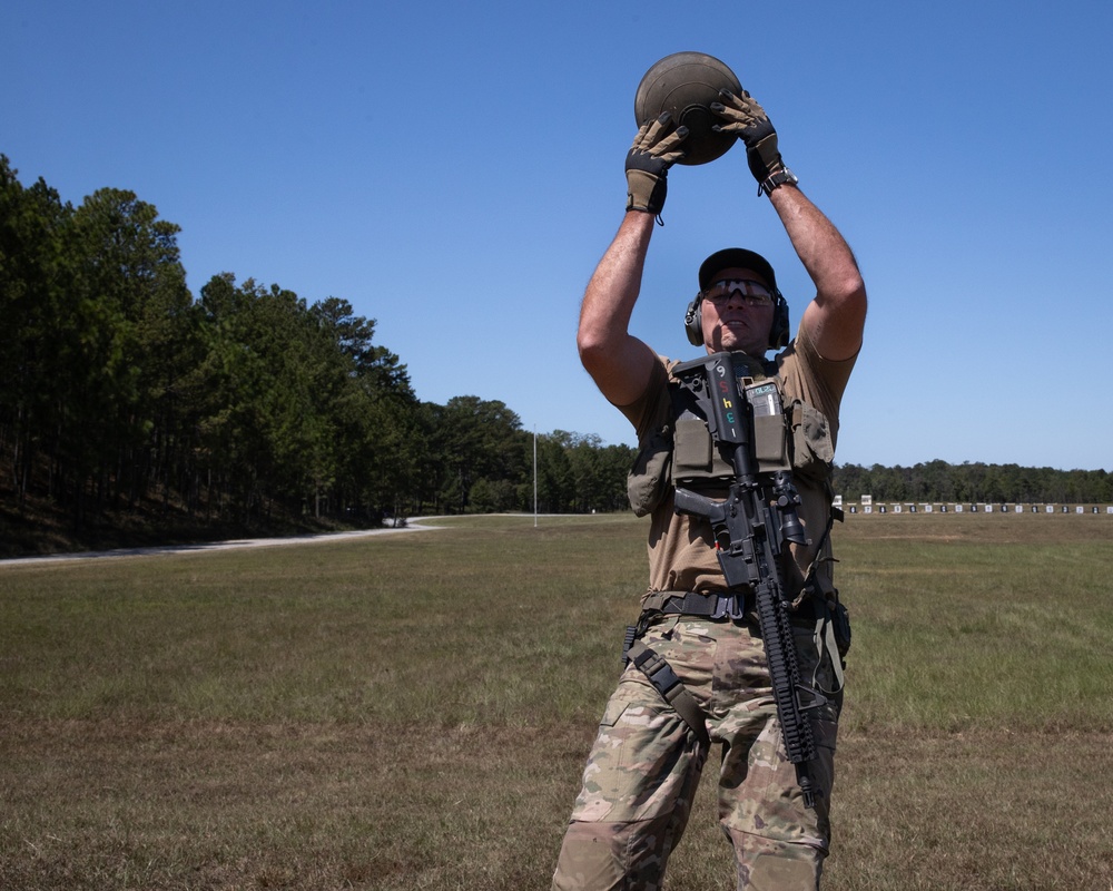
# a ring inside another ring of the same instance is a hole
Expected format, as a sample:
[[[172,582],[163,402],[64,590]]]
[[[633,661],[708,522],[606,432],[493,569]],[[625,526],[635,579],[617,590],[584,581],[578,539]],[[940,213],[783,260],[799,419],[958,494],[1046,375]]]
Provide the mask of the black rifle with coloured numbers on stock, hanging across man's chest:
[[[780,414],[784,425],[780,396],[772,381],[741,386],[731,353],[684,362],[672,373],[696,395],[711,437],[721,451],[729,451],[733,469],[726,499],[717,501],[678,486],[674,509],[710,520],[727,587],[749,585],[754,590],[785,748],[796,765],[805,806],[815,807],[807,763],[816,756],[816,743],[805,713],[826,698],[800,681],[780,564],[786,541],[808,539],[787,461],[782,468],[761,471],[751,448],[755,414]]]

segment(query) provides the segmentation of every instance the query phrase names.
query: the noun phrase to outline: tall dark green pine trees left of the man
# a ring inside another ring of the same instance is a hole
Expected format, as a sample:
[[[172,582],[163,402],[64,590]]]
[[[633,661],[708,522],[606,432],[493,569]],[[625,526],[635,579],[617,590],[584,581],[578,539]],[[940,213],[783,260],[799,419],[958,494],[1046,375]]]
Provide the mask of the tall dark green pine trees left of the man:
[[[75,207],[17,173],[0,155],[8,509],[264,527],[624,503],[629,447],[559,430],[534,446],[502,402],[422,402],[347,301],[230,273],[195,297],[154,205],[105,188]]]

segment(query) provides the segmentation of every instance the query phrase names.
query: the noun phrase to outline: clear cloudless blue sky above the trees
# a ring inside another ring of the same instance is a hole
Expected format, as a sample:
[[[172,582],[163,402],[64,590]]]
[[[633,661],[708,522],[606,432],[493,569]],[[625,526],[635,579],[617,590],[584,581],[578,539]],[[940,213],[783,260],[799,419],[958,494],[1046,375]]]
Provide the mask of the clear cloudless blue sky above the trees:
[[[765,10],[774,10],[765,18]],[[0,153],[79,204],[181,226],[195,294],[234,273],[348,300],[418,398],[633,442],[574,347],[622,216],[633,95],[719,57],[866,277],[837,460],[1113,470],[1113,6],[8,0]],[[633,332],[689,358],[711,251],[812,296],[738,148],[674,168]]]

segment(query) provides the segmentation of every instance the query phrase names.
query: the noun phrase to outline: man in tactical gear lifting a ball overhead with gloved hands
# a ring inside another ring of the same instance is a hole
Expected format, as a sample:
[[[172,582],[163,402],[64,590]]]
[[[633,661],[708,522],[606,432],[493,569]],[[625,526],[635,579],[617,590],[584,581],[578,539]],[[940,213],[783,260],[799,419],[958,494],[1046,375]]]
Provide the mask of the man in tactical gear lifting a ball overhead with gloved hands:
[[[588,285],[577,342],[584,368],[642,447],[631,502],[651,517],[650,580],[638,646],[679,683],[666,691],[628,663],[589,756],[555,889],[661,888],[712,745],[721,745],[719,819],[739,888],[817,888],[828,852],[841,656],[849,643],[831,579],[829,477],[866,291],[846,242],[785,166],[761,106],[746,91],[721,99],[711,106],[723,120],[719,129],[746,145],[758,194],[768,197],[816,287],[789,343],[788,307],[772,266],[754,252],[728,248],[700,266],[699,293],[684,320],[693,344],[708,354],[745,353],[746,375],[774,380],[780,391],[807,539],[786,544],[782,566],[790,637],[801,677],[818,697],[807,712],[811,792],[801,789],[786,755],[754,591],[726,584],[711,523],[673,509],[678,480],[721,492],[729,467],[725,474],[722,462],[710,459],[716,443],[698,407],[678,398],[676,363],[628,331],[668,170],[683,157],[684,128],[662,116],[639,130],[627,157],[627,213]],[[781,347],[766,360],[768,350]]]

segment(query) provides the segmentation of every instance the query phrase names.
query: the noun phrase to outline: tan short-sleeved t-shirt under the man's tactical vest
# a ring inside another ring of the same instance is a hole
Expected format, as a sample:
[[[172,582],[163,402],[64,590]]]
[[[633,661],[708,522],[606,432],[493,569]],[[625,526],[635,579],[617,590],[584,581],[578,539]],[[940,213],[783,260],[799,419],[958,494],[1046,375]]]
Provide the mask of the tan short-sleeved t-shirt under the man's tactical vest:
[[[792,479],[800,493],[800,520],[809,544],[791,545],[792,561],[786,588],[791,596],[799,593],[804,578],[816,555],[816,548],[827,528],[830,502],[827,479],[835,457],[838,435],[838,410],[856,358],[831,362],[816,351],[806,332],[776,359],[777,376],[784,393],[785,411],[791,412],[794,400],[804,404],[794,413]],[[656,431],[672,423],[672,399],[669,394],[669,368],[674,363],[661,359],[654,366],[646,392],[636,402],[619,410],[638,431],[644,443]],[[652,510],[649,527],[649,591],[715,591],[726,582],[718,557],[711,525],[701,517],[678,515],[672,508],[673,488]],[[726,491],[722,492],[726,495]],[[829,548],[829,544],[825,550]],[[829,575],[829,562],[823,571]]]

